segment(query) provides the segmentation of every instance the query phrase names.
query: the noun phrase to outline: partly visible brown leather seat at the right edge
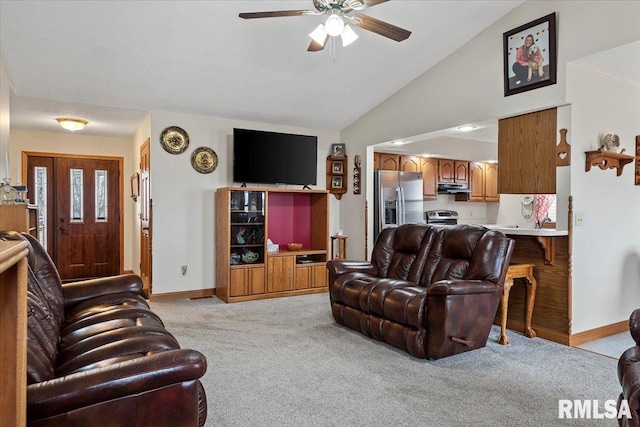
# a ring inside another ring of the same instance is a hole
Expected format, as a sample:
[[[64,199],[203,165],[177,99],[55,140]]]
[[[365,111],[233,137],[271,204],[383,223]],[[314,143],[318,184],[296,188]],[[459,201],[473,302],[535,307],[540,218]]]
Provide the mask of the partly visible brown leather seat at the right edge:
[[[636,345],[628,348],[618,359],[618,381],[622,392],[618,399],[618,413],[623,400],[627,401],[631,418],[622,417],[618,424],[624,427],[640,426],[640,309],[629,317],[629,332]],[[624,411],[623,411],[624,412]]]

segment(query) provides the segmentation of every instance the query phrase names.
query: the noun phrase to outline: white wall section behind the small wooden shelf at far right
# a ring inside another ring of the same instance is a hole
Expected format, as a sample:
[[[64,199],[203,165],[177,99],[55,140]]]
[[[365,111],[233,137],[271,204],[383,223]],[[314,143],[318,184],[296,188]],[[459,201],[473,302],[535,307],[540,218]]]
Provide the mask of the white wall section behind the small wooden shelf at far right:
[[[620,137],[635,152],[640,135],[640,86],[569,64],[567,99],[572,104],[571,194],[584,225],[573,228],[573,332],[628,319],[640,307],[640,186],[634,164],[585,172],[585,151],[604,134]]]

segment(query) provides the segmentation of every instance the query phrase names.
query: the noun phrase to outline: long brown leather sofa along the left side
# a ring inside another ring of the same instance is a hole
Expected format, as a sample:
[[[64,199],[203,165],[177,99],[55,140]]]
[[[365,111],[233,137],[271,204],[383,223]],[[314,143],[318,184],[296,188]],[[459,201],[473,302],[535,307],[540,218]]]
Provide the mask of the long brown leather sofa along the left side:
[[[29,426],[203,426],[205,357],[180,349],[126,274],[62,284],[46,250],[29,242]]]

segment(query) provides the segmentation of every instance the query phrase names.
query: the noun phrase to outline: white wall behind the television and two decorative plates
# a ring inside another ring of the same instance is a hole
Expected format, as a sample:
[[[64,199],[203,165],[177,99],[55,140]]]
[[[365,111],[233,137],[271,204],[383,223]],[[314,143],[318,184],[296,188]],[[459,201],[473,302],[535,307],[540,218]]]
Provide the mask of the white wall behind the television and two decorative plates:
[[[179,126],[189,134],[189,148],[184,153],[172,155],[160,146],[160,134],[168,126]],[[234,127],[316,135],[318,185],[312,188],[325,189],[325,161],[331,144],[339,142],[338,132],[152,112],[150,134],[154,295],[216,287],[215,191],[232,185]],[[191,167],[191,153],[201,146],[210,147],[218,155],[219,165],[210,174],[198,173]],[[351,153],[347,151],[347,155],[350,156]],[[300,189],[301,186],[289,188]],[[339,204],[332,196],[329,230],[339,228],[338,216]],[[182,265],[188,266],[186,276],[180,273]]]

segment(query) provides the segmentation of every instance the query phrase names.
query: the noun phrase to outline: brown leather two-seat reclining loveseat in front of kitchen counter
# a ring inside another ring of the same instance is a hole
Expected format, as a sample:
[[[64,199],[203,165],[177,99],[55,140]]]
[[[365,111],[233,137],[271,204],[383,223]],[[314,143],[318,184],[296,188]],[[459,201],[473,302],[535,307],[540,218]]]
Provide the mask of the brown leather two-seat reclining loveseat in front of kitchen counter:
[[[333,317],[418,358],[484,347],[513,245],[477,225],[386,228],[371,262],[327,263]]]

